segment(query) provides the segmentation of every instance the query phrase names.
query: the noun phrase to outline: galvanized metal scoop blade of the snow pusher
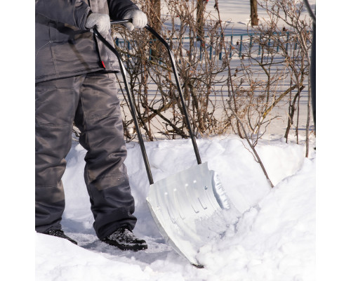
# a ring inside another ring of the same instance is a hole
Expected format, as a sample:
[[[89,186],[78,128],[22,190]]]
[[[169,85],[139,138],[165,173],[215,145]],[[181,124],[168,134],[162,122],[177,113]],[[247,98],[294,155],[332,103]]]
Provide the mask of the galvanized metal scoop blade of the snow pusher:
[[[207,163],[150,185],[147,204],[166,242],[194,266],[199,249],[227,229],[230,202]]]

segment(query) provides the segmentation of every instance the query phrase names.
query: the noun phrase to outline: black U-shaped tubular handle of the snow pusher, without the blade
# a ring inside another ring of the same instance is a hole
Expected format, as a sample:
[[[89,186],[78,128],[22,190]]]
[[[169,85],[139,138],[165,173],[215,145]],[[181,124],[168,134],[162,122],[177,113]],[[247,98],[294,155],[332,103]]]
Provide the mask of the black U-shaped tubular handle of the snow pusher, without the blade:
[[[127,23],[127,22],[132,22],[132,20],[131,19],[114,20],[114,21],[111,22],[111,24],[124,24],[124,23]],[[200,155],[199,155],[199,149],[197,148],[197,143],[196,143],[196,140],[195,140],[195,137],[194,137],[194,133],[192,132],[192,127],[191,127],[191,124],[190,124],[189,115],[187,114],[187,107],[185,105],[183,91],[182,91],[182,88],[180,86],[178,72],[177,72],[177,69],[176,69],[176,60],[174,59],[174,55],[171,52],[171,48],[169,47],[168,43],[152,27],[150,27],[150,25],[146,25],[145,28],[150,33],[152,33],[154,35],[154,37],[156,37],[159,41],[161,41],[161,43],[164,44],[164,46],[167,48],[169,58],[171,59],[171,65],[172,65],[172,69],[173,69],[173,74],[174,74],[174,76],[176,78],[176,84],[177,84],[180,100],[181,100],[181,103],[182,103],[183,112],[184,112],[185,119],[186,119],[186,122],[187,122],[187,128],[189,130],[190,138],[192,139],[192,145],[194,147],[194,152],[195,152],[195,155],[197,157],[197,164],[201,164],[201,158],[200,158]],[[120,67],[121,74],[122,74],[123,81],[124,81],[124,86],[126,87],[126,93],[127,93],[127,96],[128,96],[128,102],[129,102],[129,104],[131,106],[131,115],[133,117],[133,122],[135,124],[135,130],[137,131],[137,134],[138,134],[138,140],[139,140],[139,143],[140,143],[140,149],[141,149],[141,152],[142,152],[142,155],[143,155],[143,159],[144,159],[144,164],[145,164],[145,168],[146,168],[146,172],[147,172],[147,177],[149,178],[150,185],[152,185],[154,183],[154,180],[152,178],[149,160],[147,159],[147,154],[146,154],[146,150],[145,150],[143,136],[142,136],[142,134],[140,132],[140,127],[139,127],[139,123],[138,123],[138,119],[137,119],[137,115],[136,115],[136,110],[135,110],[135,105],[134,105],[133,99],[131,97],[131,89],[130,89],[128,81],[126,79],[126,68],[124,67],[123,61],[121,60],[121,55],[119,55],[119,52],[114,48],[114,46],[112,46],[108,41],[106,41],[106,39],[104,37],[102,37],[102,35],[100,34],[100,32],[98,32],[96,27],[93,28],[93,33],[95,34],[96,37],[98,37],[98,39],[100,41],[102,41],[103,44],[105,44],[105,46],[107,46],[107,48],[110,49],[110,51],[112,51],[112,53],[114,53],[114,55],[117,56],[117,60],[119,62],[119,67]]]

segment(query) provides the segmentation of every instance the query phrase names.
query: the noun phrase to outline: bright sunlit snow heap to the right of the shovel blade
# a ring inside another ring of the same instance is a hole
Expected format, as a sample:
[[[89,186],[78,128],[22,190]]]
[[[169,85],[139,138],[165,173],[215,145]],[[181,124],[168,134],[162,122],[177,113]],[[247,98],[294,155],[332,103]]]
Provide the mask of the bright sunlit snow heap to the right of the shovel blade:
[[[241,217],[237,232],[201,249],[211,280],[314,280],[314,174],[306,159]]]

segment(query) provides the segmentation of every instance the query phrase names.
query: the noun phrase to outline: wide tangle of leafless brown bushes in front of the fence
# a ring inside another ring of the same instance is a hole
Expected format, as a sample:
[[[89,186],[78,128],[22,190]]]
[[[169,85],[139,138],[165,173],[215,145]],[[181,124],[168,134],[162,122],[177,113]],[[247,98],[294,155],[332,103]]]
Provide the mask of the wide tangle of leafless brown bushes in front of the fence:
[[[156,14],[148,3],[138,1],[145,12]],[[204,37],[199,32],[196,1],[164,2],[164,11],[168,12],[159,18],[159,32],[178,62],[187,110],[197,136],[238,133],[255,146],[270,122],[279,117],[273,108],[288,104],[286,139],[291,129],[296,129],[298,139],[298,124],[293,120],[298,122],[294,117],[308,76],[311,34],[310,22],[300,18],[302,0],[293,3],[260,1],[267,17],[249,27],[242,40],[233,42],[225,36],[229,27],[220,20],[218,1],[217,14],[204,12],[201,19]],[[128,32],[115,26],[113,36],[119,38],[117,49],[124,58],[145,138],[187,138],[183,108],[164,47],[147,30]],[[121,77],[117,78],[124,94]],[[135,131],[128,106],[124,99],[121,108],[125,136],[126,141],[131,141]]]

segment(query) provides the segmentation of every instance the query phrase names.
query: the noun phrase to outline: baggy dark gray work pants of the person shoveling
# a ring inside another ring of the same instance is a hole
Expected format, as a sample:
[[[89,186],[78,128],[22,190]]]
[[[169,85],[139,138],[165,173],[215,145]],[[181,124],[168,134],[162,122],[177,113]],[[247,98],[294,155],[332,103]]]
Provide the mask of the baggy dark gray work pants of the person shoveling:
[[[87,150],[84,179],[93,227],[100,239],[119,226],[133,229],[134,199],[115,74],[91,73],[36,84],[35,224],[39,233],[60,229],[65,208],[62,175],[71,148],[73,121]]]

